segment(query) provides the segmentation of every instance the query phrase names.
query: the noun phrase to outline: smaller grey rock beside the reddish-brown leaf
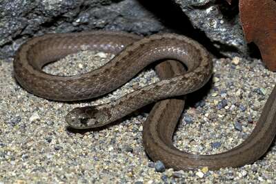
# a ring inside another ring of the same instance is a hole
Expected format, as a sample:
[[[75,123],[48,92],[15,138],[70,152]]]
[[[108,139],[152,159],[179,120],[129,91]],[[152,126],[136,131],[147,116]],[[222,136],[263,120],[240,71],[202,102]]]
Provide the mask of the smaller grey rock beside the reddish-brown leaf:
[[[221,54],[231,56],[248,55],[239,16],[225,1],[215,0],[174,0],[187,15],[195,28],[205,32]],[[225,48],[227,45],[228,49]],[[235,52],[231,51],[232,48]]]

